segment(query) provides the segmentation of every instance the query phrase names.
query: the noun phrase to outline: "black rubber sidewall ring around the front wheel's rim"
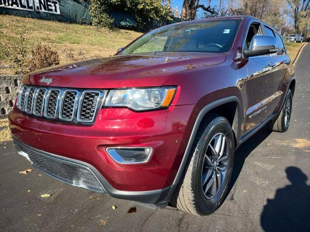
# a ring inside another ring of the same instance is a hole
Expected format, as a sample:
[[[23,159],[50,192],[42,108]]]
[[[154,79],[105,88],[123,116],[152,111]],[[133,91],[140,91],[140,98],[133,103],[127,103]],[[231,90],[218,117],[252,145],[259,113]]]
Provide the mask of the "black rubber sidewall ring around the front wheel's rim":
[[[228,149],[229,149],[229,163],[228,163],[228,170],[224,180],[222,187],[220,188],[218,194],[213,199],[207,199],[203,192],[202,192],[202,185],[201,185],[201,176],[202,176],[202,164],[204,160],[204,154],[207,149],[207,146],[210,143],[210,140],[216,135],[218,132],[222,132],[226,135],[226,139],[228,142]],[[234,139],[233,139],[233,131],[231,128],[230,123],[224,117],[218,117],[217,122],[210,129],[206,129],[202,137],[200,138],[200,142],[197,146],[199,149],[199,156],[197,162],[195,163],[195,173],[194,173],[194,181],[195,181],[195,188],[194,188],[194,195],[196,196],[195,200],[199,205],[203,214],[211,214],[221,205],[223,202],[227,189],[229,187],[230,178],[233,171],[233,157],[234,157]],[[196,149],[197,149],[196,148]]]

